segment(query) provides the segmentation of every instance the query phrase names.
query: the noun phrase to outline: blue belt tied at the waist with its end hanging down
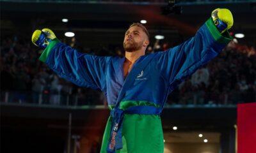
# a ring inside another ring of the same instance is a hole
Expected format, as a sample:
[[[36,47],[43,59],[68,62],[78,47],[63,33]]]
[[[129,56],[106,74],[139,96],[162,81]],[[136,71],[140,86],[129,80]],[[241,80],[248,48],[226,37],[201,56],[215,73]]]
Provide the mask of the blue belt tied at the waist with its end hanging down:
[[[113,117],[111,135],[108,142],[108,153],[114,153],[115,150],[123,148],[122,143],[122,121],[124,113],[141,114],[141,115],[160,115],[161,109],[155,106],[131,106],[127,110],[114,108],[110,115]]]

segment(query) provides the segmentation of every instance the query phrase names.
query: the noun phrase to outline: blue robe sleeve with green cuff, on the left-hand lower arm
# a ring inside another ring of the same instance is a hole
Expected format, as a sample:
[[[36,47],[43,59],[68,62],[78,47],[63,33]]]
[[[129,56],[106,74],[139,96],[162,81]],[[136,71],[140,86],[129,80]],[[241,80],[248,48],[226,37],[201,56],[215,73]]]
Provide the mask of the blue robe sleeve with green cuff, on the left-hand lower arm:
[[[108,57],[81,54],[55,39],[40,56],[49,68],[80,87],[102,90]]]

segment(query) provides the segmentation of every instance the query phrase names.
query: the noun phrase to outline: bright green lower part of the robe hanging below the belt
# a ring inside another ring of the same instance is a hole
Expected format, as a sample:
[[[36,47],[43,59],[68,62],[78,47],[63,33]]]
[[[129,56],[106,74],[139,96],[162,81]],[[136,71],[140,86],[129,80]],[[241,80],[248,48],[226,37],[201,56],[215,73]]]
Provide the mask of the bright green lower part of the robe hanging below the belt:
[[[112,117],[109,117],[100,153],[107,152],[111,121]],[[116,153],[163,153],[163,129],[159,115],[125,114],[122,140],[123,149],[117,150]]]

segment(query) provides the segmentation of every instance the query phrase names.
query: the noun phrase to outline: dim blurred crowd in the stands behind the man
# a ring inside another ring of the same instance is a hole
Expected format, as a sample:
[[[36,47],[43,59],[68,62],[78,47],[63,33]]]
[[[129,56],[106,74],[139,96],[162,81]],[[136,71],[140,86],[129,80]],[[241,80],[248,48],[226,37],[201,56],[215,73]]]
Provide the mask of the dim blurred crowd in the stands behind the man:
[[[122,47],[97,49],[79,47],[79,52],[95,55],[124,55]],[[147,54],[174,45],[156,41]],[[38,60],[42,50],[28,38],[5,36],[1,39],[1,103],[52,105],[105,105],[100,91],[77,87],[56,75]],[[228,105],[256,101],[256,52],[253,47],[230,44],[204,67],[170,94],[167,105]]]

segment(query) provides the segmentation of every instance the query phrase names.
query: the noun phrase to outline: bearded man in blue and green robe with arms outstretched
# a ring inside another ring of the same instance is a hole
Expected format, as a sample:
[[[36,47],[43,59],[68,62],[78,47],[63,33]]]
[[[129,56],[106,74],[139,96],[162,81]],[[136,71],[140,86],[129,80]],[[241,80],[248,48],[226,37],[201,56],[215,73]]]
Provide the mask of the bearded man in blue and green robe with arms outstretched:
[[[101,152],[163,152],[159,117],[168,94],[204,65],[232,39],[233,24],[227,9],[212,11],[195,36],[165,52],[145,55],[147,29],[132,24],[125,33],[125,57],[81,54],[56,38],[50,29],[36,30],[33,43],[44,52],[45,62],[61,77],[81,87],[100,89],[108,99],[111,116]]]

